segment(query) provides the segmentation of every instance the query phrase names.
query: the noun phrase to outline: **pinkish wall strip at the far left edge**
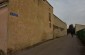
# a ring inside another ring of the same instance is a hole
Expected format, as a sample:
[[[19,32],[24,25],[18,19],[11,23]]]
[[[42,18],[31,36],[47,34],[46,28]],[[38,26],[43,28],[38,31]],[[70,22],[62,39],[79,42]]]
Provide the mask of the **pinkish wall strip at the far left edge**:
[[[8,8],[4,7],[0,9],[0,49],[5,53],[7,52],[7,19]]]

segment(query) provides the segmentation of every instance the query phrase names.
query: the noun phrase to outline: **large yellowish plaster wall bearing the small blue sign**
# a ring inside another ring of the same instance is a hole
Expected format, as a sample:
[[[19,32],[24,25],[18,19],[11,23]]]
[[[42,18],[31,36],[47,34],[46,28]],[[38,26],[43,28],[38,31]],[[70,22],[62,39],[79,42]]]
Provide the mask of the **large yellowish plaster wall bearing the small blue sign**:
[[[19,50],[52,39],[49,13],[52,7],[43,0],[9,0],[8,49]],[[50,21],[52,22],[52,21]]]

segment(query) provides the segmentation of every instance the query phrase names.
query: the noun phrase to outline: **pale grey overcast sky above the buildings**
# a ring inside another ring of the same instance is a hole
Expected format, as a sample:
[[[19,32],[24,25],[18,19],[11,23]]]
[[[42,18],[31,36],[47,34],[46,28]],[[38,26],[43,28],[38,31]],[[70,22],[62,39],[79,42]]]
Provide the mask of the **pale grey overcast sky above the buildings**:
[[[48,0],[54,14],[69,24],[85,25],[85,0]]]

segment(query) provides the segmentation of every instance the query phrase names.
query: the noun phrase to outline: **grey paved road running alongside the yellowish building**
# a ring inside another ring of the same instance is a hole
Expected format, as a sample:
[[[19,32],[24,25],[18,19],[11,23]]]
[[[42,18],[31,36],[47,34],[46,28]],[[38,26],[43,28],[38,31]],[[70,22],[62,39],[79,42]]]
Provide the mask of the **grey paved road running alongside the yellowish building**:
[[[83,46],[76,37],[62,37],[13,55],[81,55]]]

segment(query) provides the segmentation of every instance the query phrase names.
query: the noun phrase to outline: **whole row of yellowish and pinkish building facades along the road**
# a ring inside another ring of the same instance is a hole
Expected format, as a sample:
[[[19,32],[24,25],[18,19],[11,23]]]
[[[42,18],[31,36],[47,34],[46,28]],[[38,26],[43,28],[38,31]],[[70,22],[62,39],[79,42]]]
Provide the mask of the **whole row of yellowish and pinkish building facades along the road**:
[[[0,49],[5,52],[21,50],[67,33],[66,23],[53,14],[47,0],[9,0],[4,7],[0,9]]]

